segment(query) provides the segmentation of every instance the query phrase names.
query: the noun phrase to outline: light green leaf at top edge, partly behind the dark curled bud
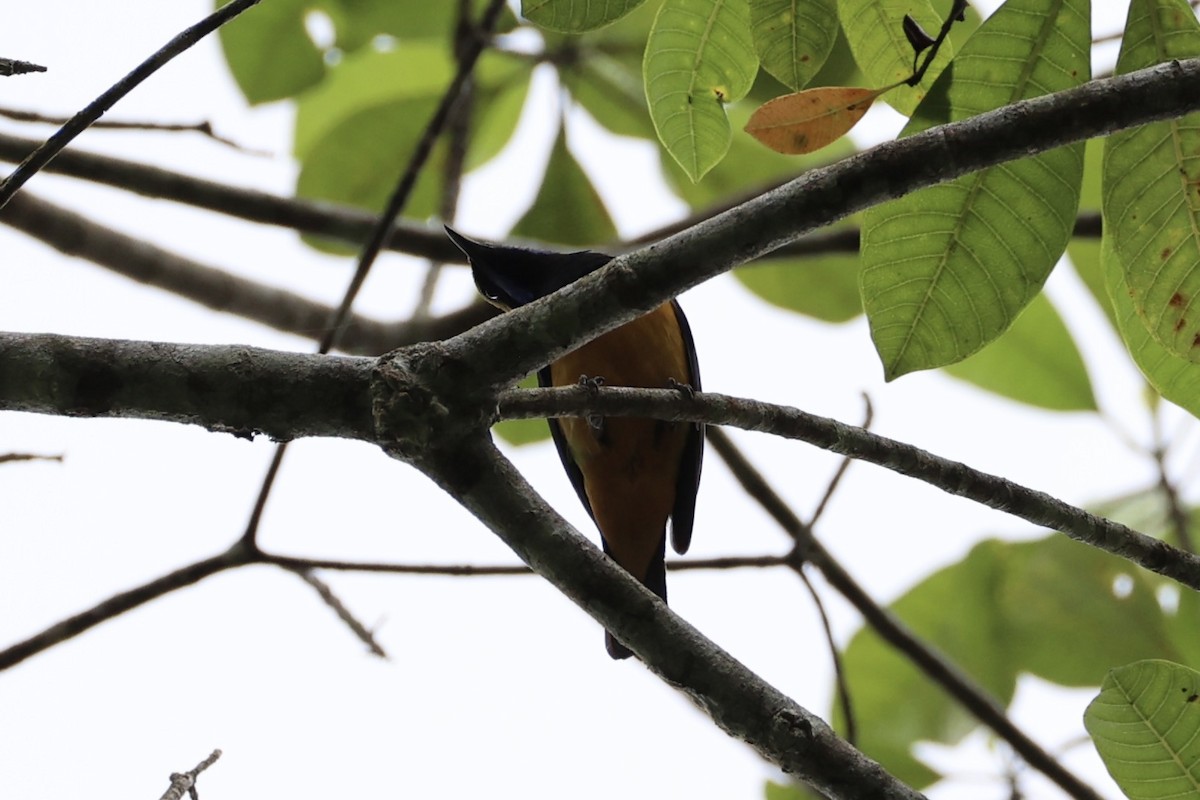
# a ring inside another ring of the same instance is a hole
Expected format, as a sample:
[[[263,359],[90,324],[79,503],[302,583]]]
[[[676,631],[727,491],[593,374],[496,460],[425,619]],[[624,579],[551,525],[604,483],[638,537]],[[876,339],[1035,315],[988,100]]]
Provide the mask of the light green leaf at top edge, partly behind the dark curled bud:
[[[936,31],[942,26],[943,16],[929,0],[838,0],[838,17],[850,49],[875,89],[907,80],[913,74],[912,46],[901,28],[905,14],[925,30]],[[918,85],[898,86],[883,95],[883,100],[905,116],[911,115],[953,55],[953,46],[944,42]]]

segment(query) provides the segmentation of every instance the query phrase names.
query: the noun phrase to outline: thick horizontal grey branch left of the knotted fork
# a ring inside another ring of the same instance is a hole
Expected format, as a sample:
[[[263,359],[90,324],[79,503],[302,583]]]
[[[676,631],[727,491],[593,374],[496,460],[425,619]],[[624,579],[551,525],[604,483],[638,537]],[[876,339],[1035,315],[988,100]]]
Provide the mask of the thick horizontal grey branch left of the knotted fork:
[[[374,440],[373,359],[0,333],[0,409]]]

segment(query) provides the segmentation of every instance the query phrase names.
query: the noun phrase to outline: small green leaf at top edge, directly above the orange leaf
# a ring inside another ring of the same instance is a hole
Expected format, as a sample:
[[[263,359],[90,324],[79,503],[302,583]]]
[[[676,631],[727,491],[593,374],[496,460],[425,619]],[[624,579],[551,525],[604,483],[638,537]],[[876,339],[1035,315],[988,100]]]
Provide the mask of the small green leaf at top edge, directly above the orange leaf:
[[[838,41],[836,0],[750,0],[750,22],[763,68],[797,91]]]

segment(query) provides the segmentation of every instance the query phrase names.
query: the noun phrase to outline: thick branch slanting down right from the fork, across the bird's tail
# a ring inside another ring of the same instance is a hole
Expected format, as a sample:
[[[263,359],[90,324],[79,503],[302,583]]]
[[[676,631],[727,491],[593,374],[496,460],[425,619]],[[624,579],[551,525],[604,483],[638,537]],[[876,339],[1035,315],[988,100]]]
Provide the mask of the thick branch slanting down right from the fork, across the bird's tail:
[[[487,439],[426,451],[415,463],[655,674],[785,772],[828,798],[922,796],[672,613],[546,505]]]

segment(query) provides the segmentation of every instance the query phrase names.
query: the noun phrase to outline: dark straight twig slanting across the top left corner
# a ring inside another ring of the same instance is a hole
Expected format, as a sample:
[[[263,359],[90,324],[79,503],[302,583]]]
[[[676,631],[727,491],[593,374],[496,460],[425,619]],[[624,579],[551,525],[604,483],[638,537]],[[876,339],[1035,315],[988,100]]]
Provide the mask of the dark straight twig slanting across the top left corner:
[[[17,169],[0,184],[0,209],[7,205],[12,196],[25,185],[30,178],[37,174],[42,167],[48,164],[72,139],[88,130],[92,122],[98,120],[104,112],[125,97],[127,94],[157,72],[168,61],[196,44],[198,41],[215,31],[217,28],[229,22],[251,6],[258,5],[259,0],[233,0],[233,2],[217,8],[211,14],[182,31],[167,42],[157,53],[139,64],[132,72],[118,80],[100,97],[88,103],[88,106],[72,116],[66,125],[59,128],[46,144],[17,166]]]

